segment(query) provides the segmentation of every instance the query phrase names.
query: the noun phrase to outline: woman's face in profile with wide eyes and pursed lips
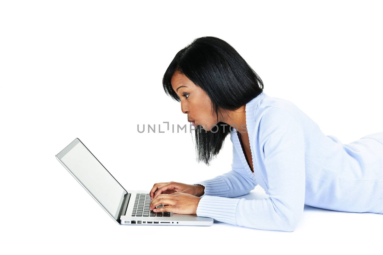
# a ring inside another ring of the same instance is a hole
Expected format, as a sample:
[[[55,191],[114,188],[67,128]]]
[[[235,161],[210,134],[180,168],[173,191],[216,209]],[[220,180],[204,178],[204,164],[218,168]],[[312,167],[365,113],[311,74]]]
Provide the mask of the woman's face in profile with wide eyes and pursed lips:
[[[212,114],[210,97],[179,71],[175,71],[170,82],[181,99],[181,110],[188,115],[188,121],[194,121],[195,125],[210,131],[217,124],[216,115]]]

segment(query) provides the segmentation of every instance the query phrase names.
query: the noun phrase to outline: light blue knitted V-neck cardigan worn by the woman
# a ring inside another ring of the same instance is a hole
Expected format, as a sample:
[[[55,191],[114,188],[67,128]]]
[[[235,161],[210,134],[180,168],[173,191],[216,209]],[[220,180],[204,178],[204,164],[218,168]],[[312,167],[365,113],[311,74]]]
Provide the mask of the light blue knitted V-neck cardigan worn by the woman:
[[[342,144],[324,135],[295,104],[264,92],[246,104],[254,174],[233,143],[231,171],[205,186],[197,216],[255,229],[294,231],[304,204],[336,211],[383,213],[383,132]],[[259,184],[269,198],[246,200]]]

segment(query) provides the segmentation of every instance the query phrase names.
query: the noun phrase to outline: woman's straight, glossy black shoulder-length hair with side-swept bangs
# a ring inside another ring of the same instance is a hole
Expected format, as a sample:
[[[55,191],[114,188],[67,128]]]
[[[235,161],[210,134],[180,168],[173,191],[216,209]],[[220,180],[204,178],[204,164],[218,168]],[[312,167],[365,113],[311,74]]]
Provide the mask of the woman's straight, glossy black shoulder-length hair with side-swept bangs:
[[[263,91],[261,78],[241,55],[230,44],[213,36],[195,39],[175,55],[165,71],[162,79],[165,93],[180,102],[170,83],[175,71],[206,92],[217,121],[220,109],[237,110]],[[231,128],[223,122],[218,122],[210,131],[198,125],[195,130],[198,162],[209,165],[230,132]]]

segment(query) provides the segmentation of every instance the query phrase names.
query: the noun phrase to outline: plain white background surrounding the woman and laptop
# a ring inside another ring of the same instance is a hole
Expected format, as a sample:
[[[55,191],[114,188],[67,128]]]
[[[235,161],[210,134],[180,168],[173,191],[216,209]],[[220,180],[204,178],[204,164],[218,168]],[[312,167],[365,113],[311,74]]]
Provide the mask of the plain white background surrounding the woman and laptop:
[[[188,124],[162,76],[201,36],[231,44],[266,94],[296,104],[324,134],[350,143],[382,132],[382,11],[380,1],[2,1],[1,249],[380,253],[381,214],[310,206],[294,232],[119,226],[55,155],[78,137],[131,190],[230,171],[229,136],[208,167],[196,162],[190,133],[137,132]]]

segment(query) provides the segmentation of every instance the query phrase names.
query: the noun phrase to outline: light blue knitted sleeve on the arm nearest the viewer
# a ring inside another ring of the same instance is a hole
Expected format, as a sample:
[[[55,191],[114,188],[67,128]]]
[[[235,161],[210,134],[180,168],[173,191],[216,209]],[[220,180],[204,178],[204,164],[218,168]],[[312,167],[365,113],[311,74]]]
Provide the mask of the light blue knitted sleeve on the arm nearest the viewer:
[[[261,148],[257,152],[264,159],[260,164],[265,169],[262,175],[269,198],[206,195],[198,204],[197,216],[255,229],[295,230],[303,214],[305,195],[303,128],[290,112],[270,108],[260,120]]]

